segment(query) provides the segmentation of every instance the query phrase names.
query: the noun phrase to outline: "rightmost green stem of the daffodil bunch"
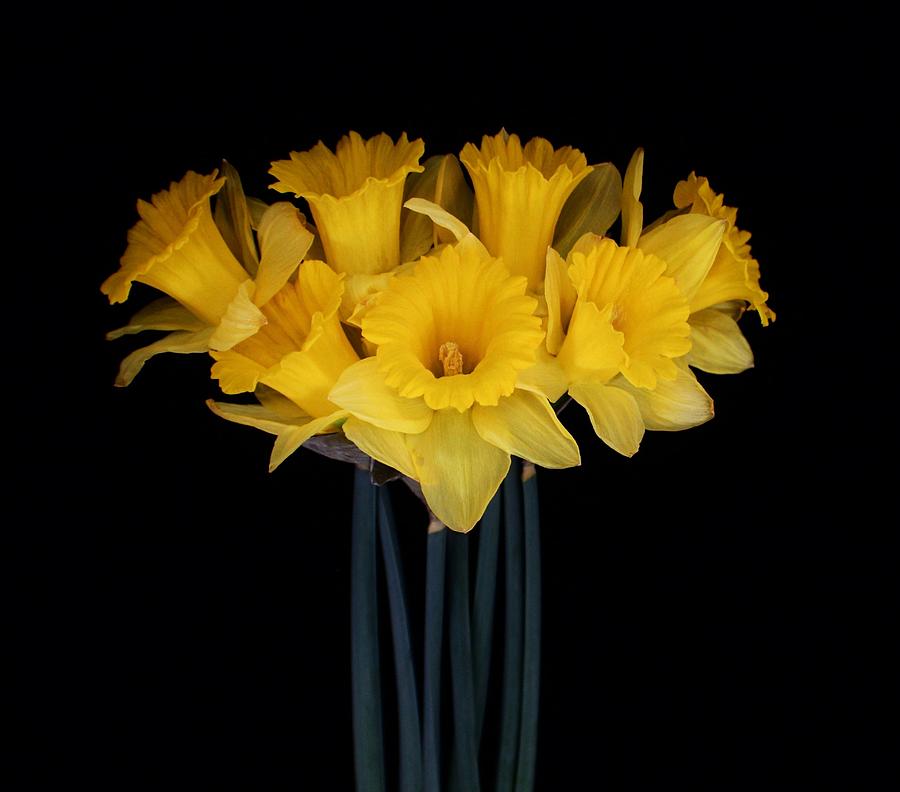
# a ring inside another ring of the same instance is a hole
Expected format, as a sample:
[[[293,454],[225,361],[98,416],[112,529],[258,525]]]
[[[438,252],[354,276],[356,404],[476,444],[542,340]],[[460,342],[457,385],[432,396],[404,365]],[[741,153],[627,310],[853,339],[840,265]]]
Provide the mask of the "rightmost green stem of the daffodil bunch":
[[[525,654],[522,662],[522,731],[516,792],[531,792],[537,759],[541,681],[541,522],[537,471],[530,462],[522,466],[522,493],[525,513]]]

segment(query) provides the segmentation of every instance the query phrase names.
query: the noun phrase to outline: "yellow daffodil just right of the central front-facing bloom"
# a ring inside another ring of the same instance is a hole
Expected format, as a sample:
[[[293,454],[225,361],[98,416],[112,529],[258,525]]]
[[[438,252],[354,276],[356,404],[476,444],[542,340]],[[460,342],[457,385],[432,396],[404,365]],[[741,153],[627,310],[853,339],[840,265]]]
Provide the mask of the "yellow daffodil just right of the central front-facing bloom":
[[[678,363],[691,348],[689,308],[667,269],[656,254],[592,234],[566,261],[547,254],[547,346],[562,373],[548,395],[568,390],[598,437],[625,456],[645,428],[686,429],[712,417],[709,396]]]

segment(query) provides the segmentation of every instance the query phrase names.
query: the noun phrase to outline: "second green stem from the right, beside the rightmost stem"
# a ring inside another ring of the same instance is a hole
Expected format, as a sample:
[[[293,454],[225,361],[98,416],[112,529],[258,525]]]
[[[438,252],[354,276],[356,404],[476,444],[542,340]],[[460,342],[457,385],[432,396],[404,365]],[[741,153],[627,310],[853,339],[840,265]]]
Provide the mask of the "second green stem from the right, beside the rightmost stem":
[[[506,625],[497,792],[512,792],[522,705],[522,466],[513,457],[503,481]]]

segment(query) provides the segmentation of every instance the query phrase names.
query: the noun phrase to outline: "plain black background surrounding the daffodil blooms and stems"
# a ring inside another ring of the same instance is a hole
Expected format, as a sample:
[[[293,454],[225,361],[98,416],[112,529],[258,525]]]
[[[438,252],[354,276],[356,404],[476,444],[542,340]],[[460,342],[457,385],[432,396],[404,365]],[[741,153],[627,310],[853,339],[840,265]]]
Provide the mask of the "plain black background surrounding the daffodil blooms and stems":
[[[622,171],[644,146],[648,218],[708,176],[778,313],[742,322],[754,369],[702,378],[705,426],[625,460],[564,414],[583,465],[540,473],[539,789],[887,788],[896,161],[871,115],[890,63],[877,25],[690,20],[651,39],[599,12],[406,21],[303,9],[110,35],[78,17],[11,65],[22,788],[352,788],[351,469],[301,451],[268,474],[271,438],[204,406],[201,356],[113,388],[139,342],[103,335],[149,290],[111,308],[99,285],[136,198],[188,169],[227,158],[271,197],[270,160],[349,129],[407,131],[430,155],[501,126]],[[396,497],[416,599],[425,516]]]

